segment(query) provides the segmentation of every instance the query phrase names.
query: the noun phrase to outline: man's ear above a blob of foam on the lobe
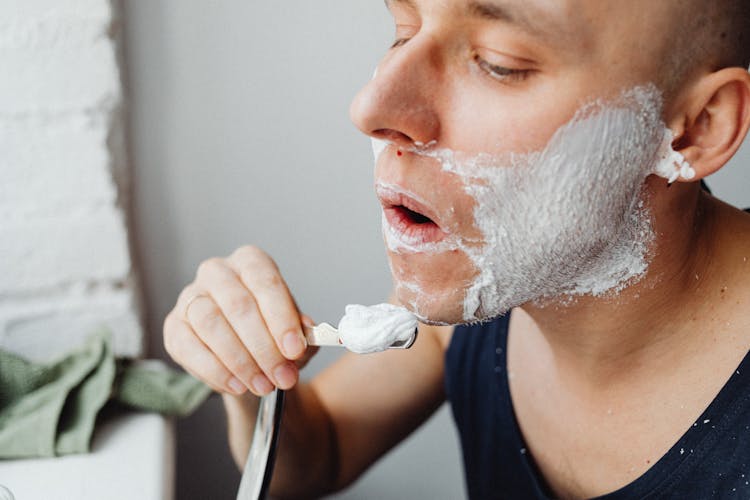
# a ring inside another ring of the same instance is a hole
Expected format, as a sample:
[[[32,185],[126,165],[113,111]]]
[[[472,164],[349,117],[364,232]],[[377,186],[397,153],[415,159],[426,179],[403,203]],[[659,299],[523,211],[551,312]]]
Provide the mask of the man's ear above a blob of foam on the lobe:
[[[695,170],[692,181],[723,167],[742,145],[750,127],[750,73],[739,67],[706,75],[682,96],[670,127],[672,147]]]

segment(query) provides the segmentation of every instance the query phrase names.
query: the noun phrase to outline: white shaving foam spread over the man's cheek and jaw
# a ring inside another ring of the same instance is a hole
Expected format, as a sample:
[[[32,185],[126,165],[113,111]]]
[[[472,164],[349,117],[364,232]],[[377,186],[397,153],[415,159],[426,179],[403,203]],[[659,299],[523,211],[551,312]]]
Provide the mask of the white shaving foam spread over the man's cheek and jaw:
[[[647,85],[582,107],[539,152],[410,150],[461,177],[476,201],[482,242],[452,235],[439,248],[421,248],[384,224],[390,251],[467,255],[476,274],[465,289],[464,322],[530,301],[617,293],[648,268],[653,231],[643,196],[646,177],[671,178],[675,170],[690,175],[686,162],[676,165],[661,109],[661,93]],[[428,299],[410,304],[418,316],[430,316],[418,307]]]

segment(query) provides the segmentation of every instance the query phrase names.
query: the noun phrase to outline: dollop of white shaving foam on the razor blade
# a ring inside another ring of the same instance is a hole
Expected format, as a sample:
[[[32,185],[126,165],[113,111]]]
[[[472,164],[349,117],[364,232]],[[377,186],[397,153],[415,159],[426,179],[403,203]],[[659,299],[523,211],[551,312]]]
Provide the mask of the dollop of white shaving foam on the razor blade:
[[[338,330],[344,347],[358,354],[385,351],[394,342],[409,340],[417,318],[393,304],[346,306]]]

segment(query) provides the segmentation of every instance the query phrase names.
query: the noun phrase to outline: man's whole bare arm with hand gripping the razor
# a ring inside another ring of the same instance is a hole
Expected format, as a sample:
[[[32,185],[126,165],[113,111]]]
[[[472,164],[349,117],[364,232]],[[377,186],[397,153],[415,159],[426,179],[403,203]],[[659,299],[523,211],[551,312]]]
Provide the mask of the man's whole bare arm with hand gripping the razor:
[[[274,386],[287,391],[271,487],[284,497],[350,484],[444,399],[439,339],[446,330],[422,326],[408,351],[347,354],[298,384],[299,369],[317,350],[306,347],[303,324],[310,319],[256,247],[202,263],[164,322],[167,352],[224,394],[238,465],[250,447],[258,396]]]

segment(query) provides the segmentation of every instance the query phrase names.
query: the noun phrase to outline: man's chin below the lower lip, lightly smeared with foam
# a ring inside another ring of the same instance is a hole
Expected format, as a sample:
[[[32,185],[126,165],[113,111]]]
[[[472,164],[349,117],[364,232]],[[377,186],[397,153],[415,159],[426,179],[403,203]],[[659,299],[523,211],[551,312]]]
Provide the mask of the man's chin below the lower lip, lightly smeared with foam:
[[[477,272],[460,250],[441,253],[389,251],[396,298],[421,322],[464,323],[464,299]]]

